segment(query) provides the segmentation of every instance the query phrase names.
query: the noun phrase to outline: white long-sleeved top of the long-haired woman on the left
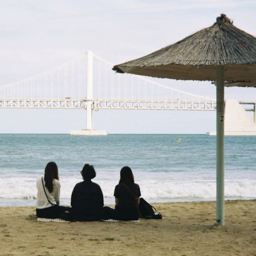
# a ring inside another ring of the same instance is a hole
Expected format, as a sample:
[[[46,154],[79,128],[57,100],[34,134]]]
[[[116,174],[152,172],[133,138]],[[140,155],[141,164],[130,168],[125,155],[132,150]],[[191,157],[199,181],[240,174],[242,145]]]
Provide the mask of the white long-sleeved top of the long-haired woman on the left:
[[[45,186],[45,179],[43,178],[44,186]],[[51,207],[52,204],[50,204],[46,198],[45,192],[47,194],[48,199],[53,204],[59,205],[59,195],[60,195],[60,183],[58,180],[54,179],[52,181],[53,184],[53,191],[50,193],[45,186],[45,191],[42,184],[42,178],[37,179],[37,203],[36,208],[37,209],[43,209]]]

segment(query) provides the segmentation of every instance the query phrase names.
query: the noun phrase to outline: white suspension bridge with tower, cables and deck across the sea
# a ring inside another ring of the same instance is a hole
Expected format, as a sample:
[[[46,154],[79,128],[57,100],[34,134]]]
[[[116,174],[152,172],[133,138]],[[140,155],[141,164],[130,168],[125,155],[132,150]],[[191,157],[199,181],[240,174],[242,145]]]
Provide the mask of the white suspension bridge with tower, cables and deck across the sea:
[[[91,51],[36,76],[0,86],[0,108],[85,109],[86,129],[71,134],[103,135],[93,129],[93,111],[100,109],[214,111],[216,100],[187,93],[153,80],[117,74],[112,63]],[[252,104],[254,102],[243,102]],[[254,104],[254,105],[253,105]],[[255,120],[254,120],[255,121]]]

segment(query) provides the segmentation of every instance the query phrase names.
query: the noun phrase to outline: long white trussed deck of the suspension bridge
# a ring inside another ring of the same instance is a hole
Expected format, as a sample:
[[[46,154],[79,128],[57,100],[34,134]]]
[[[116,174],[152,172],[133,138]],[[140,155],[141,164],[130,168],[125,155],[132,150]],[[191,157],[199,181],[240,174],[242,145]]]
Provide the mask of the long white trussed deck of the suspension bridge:
[[[208,110],[216,109],[215,101],[184,100],[87,100],[87,99],[0,99],[0,108],[56,108],[86,109],[155,109],[155,110]]]

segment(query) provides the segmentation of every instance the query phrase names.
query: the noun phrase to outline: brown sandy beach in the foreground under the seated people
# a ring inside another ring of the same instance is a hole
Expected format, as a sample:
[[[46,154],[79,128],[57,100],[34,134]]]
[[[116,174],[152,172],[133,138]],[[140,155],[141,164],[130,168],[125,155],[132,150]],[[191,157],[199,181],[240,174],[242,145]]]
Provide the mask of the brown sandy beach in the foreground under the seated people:
[[[39,222],[33,207],[0,208],[1,255],[256,255],[256,200],[152,204],[162,220]]]

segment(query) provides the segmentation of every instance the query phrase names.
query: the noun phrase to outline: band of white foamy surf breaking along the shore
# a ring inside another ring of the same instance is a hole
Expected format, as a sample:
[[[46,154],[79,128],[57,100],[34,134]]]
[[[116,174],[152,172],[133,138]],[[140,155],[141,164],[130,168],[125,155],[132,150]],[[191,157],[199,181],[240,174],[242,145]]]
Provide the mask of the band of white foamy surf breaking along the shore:
[[[159,174],[159,173],[158,173]],[[104,178],[104,177],[102,177]],[[113,198],[115,185],[118,180],[95,179],[100,185],[104,197]],[[37,189],[36,178],[0,178],[0,198],[5,199],[35,199]],[[81,182],[80,178],[62,178],[61,198],[70,199],[74,185]],[[210,200],[216,196],[215,180],[172,180],[172,179],[139,179],[136,181],[141,189],[141,195],[152,201],[180,201],[180,200]],[[256,180],[225,180],[226,198],[256,198]]]

